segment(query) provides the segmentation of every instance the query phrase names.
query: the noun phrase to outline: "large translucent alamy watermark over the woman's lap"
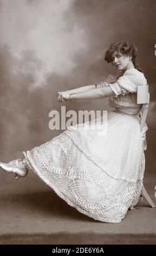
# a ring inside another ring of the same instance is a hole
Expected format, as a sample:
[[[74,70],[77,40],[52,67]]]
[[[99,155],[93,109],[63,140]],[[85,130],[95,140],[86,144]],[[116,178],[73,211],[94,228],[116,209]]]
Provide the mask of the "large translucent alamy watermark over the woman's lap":
[[[102,114],[101,114],[102,112]],[[107,133],[107,111],[90,110],[78,111],[69,110],[66,113],[66,106],[61,106],[61,117],[57,110],[49,112],[49,129],[50,130],[66,130],[66,129],[79,129],[79,130],[95,130],[98,136],[106,135]],[[90,117],[90,120],[89,120]],[[66,118],[69,118],[66,120]],[[84,120],[84,123],[83,123]]]

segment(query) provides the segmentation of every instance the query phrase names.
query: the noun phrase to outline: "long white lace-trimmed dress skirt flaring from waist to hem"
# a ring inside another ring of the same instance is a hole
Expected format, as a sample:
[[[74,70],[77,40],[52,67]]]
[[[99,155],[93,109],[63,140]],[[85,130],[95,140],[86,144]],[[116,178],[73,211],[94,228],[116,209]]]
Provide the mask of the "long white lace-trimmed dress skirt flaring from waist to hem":
[[[105,134],[83,126],[23,152],[24,159],[70,206],[94,220],[119,223],[141,194],[147,125],[141,133],[139,115],[107,111]]]

